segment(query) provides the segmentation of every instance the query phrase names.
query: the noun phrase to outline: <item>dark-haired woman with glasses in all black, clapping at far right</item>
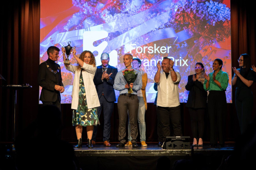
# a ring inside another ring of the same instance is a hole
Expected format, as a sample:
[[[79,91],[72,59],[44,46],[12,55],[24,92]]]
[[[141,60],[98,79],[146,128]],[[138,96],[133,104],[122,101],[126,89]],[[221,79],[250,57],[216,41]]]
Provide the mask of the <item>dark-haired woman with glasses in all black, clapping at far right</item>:
[[[251,85],[255,81],[255,72],[250,68],[251,60],[248,54],[241,54],[238,59],[239,67],[232,67],[234,76],[232,85],[237,85],[235,105],[241,134],[245,132],[251,120],[253,94]],[[253,67],[252,67],[253,68]]]

